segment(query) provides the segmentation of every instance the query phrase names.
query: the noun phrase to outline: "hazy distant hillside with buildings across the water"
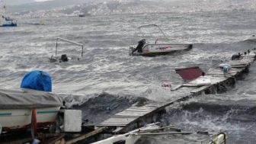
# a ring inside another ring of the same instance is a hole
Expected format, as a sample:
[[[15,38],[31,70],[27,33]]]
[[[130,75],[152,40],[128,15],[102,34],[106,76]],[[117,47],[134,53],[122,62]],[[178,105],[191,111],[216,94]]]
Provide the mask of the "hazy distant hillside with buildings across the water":
[[[8,13],[25,18],[62,17],[76,16],[80,9],[91,15],[254,11],[256,3],[255,0],[54,0],[9,6]]]

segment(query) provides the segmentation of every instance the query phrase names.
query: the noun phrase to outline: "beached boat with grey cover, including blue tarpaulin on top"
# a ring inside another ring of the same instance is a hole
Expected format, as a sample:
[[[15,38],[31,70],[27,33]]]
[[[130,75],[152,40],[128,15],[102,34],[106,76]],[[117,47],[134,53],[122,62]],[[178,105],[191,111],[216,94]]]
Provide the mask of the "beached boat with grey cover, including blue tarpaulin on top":
[[[0,126],[3,131],[48,126],[56,120],[62,99],[51,93],[52,81],[48,73],[27,72],[21,88],[0,89]]]

